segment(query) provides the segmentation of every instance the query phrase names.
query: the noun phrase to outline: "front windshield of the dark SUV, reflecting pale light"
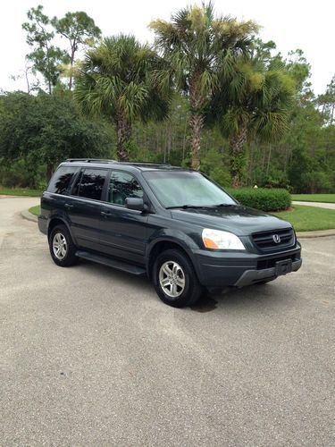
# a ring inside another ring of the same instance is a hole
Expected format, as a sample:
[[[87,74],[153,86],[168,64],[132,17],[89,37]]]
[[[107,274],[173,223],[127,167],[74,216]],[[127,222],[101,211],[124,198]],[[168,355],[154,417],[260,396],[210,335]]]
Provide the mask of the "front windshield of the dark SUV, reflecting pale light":
[[[143,175],[165,208],[236,205],[233,198],[201,173],[150,171]]]

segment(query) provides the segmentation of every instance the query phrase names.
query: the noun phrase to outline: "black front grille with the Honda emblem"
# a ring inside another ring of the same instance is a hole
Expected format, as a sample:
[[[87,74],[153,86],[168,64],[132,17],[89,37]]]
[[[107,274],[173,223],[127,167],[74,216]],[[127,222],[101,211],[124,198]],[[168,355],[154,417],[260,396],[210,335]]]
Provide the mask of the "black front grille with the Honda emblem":
[[[292,228],[271,230],[269,232],[254,232],[252,239],[255,246],[262,251],[286,249],[295,243],[295,235]]]

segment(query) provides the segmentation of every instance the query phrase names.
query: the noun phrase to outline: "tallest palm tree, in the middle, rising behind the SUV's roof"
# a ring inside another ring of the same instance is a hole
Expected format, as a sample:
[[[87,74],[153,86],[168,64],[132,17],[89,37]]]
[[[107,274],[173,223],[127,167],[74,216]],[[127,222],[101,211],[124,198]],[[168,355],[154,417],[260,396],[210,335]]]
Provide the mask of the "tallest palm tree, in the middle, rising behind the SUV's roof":
[[[188,96],[192,167],[198,170],[201,131],[214,91],[230,71],[231,56],[247,50],[257,26],[253,21],[215,18],[209,3],[181,9],[170,22],[152,21],[149,27],[155,31],[155,46],[170,63],[165,79],[172,77]]]

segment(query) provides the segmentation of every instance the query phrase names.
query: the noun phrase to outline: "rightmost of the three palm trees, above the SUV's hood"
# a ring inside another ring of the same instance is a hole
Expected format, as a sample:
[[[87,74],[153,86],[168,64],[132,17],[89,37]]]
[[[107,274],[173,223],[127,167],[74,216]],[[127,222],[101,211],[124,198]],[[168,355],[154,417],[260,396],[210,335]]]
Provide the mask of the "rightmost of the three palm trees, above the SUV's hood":
[[[281,63],[265,64],[257,56],[239,57],[231,73],[212,105],[230,142],[231,186],[238,188],[247,139],[272,143],[288,130],[295,84]]]

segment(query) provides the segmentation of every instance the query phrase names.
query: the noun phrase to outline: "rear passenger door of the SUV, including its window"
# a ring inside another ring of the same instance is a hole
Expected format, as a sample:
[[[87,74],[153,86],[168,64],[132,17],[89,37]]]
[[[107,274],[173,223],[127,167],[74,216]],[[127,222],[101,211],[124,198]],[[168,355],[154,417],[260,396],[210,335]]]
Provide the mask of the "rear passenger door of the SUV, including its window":
[[[101,198],[107,173],[107,169],[83,168],[66,200],[72,234],[80,248],[99,250]]]

